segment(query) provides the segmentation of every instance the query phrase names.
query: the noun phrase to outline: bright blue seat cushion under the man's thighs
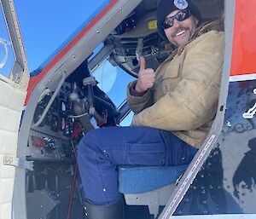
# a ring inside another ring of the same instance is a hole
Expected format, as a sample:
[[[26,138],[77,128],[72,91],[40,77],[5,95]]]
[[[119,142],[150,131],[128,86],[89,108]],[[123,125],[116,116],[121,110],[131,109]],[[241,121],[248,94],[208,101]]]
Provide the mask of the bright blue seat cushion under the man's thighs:
[[[119,166],[119,193],[146,193],[177,181],[188,165]]]

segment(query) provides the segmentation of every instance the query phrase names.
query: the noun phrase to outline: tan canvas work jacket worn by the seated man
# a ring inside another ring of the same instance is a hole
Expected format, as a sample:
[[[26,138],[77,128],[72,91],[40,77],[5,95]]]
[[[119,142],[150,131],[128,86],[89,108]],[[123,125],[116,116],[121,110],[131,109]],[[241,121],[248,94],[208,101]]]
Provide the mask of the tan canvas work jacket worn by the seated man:
[[[224,62],[223,22],[199,28],[156,70],[154,87],[143,96],[130,93],[133,125],[172,131],[199,148],[207,137],[218,107]]]

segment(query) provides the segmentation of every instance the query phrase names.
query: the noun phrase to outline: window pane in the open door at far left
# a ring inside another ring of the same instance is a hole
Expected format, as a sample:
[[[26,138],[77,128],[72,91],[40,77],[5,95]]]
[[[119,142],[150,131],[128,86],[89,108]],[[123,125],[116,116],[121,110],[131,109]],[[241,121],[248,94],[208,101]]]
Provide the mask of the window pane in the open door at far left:
[[[8,28],[1,7],[0,12],[0,74],[9,78],[15,65],[15,53],[9,38]]]

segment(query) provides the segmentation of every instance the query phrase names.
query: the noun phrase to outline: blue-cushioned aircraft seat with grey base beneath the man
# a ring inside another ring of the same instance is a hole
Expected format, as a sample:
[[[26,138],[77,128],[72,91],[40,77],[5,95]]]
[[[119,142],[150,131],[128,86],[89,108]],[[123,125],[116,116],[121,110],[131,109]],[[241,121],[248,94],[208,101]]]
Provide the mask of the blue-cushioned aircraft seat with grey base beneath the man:
[[[160,205],[166,205],[175,182],[188,165],[178,166],[119,166],[119,193],[127,205],[148,205],[154,218]]]

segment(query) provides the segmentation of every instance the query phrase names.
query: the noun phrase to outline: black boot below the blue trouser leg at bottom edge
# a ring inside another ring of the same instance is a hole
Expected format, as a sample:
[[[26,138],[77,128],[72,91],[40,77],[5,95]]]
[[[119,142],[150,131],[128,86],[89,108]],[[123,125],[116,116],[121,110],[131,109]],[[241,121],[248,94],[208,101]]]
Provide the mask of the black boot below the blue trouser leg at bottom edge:
[[[125,219],[123,199],[112,205],[92,205],[86,202],[85,211],[89,219]]]

